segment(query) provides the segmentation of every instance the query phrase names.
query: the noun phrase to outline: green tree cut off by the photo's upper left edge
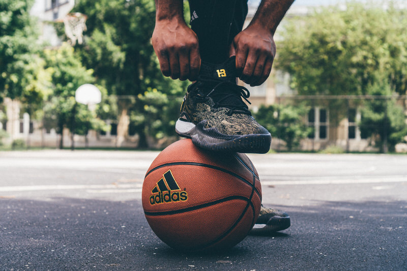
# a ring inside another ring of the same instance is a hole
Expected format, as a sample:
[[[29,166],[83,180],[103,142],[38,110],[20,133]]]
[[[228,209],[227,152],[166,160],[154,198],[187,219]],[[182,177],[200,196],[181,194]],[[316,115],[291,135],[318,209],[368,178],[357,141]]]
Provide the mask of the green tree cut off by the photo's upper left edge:
[[[33,0],[0,0],[0,90],[17,99],[39,92],[33,87],[38,61],[37,21],[29,12]]]

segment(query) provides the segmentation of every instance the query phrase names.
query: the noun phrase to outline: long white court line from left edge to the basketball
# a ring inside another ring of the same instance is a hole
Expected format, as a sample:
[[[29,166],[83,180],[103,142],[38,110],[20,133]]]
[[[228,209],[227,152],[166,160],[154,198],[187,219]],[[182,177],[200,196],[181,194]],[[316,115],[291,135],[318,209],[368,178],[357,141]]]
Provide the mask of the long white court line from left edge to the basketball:
[[[81,190],[81,189],[135,189],[142,187],[142,184],[127,185],[51,185],[51,186],[6,186],[0,187],[0,192],[23,192],[23,191],[49,191],[49,190]]]

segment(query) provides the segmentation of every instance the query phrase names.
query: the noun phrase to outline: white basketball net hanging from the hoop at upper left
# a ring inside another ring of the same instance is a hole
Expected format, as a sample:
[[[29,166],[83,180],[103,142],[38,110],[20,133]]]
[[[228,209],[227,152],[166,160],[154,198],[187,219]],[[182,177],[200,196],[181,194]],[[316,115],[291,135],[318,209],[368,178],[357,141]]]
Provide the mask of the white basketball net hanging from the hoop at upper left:
[[[83,31],[86,30],[86,19],[88,17],[82,13],[69,13],[63,19],[65,25],[65,34],[69,39],[69,43],[73,46],[83,43]]]

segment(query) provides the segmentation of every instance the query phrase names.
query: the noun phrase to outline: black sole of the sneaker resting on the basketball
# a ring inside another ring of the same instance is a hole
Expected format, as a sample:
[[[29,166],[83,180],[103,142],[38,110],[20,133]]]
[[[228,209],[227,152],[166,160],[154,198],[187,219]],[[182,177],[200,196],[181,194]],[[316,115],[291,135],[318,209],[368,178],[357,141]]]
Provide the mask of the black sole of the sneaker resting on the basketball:
[[[176,124],[178,135],[191,138],[192,142],[203,149],[214,152],[234,152],[234,153],[255,153],[265,154],[270,150],[271,135],[268,134],[249,134],[249,135],[225,135],[218,132],[215,128],[205,129],[206,121],[202,121],[189,131],[180,131],[177,129],[179,120]]]

